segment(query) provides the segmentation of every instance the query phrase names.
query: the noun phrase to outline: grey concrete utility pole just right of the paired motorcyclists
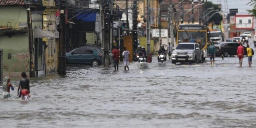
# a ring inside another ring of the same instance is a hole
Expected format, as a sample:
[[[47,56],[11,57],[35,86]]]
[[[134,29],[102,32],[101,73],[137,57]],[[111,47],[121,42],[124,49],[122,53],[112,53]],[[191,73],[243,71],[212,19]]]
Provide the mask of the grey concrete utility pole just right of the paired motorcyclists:
[[[150,53],[150,3],[147,0],[147,53]]]

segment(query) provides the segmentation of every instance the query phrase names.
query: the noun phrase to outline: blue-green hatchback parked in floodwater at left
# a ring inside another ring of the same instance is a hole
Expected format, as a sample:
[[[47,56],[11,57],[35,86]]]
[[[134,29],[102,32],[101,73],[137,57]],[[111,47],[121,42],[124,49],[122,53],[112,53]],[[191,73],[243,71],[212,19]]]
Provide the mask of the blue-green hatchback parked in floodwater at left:
[[[101,65],[102,54],[97,48],[79,47],[66,53],[67,63]]]

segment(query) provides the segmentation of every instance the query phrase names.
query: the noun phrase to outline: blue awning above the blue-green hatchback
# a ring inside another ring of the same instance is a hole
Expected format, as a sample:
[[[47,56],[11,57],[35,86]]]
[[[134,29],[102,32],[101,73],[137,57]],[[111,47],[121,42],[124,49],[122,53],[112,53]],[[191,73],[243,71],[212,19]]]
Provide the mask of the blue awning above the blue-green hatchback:
[[[76,16],[76,19],[84,22],[96,22],[96,12],[84,12]]]

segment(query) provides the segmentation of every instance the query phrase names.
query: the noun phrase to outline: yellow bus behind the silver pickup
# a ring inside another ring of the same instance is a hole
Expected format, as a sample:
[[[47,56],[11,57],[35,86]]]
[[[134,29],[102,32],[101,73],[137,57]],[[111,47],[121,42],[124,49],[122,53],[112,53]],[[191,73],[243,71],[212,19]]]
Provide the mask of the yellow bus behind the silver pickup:
[[[203,59],[207,57],[208,29],[205,25],[182,24],[176,31],[176,45],[178,43],[198,43],[203,50]]]

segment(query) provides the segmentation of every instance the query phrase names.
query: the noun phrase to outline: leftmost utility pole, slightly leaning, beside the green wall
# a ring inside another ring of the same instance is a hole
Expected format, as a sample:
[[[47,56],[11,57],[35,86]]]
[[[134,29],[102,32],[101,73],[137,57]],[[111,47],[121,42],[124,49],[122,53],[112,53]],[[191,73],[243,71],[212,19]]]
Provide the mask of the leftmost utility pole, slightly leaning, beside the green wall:
[[[27,23],[28,23],[28,40],[29,40],[29,76],[35,76],[35,66],[34,66],[34,55],[33,55],[33,28],[32,28],[32,18],[30,3],[26,4],[27,7]]]

